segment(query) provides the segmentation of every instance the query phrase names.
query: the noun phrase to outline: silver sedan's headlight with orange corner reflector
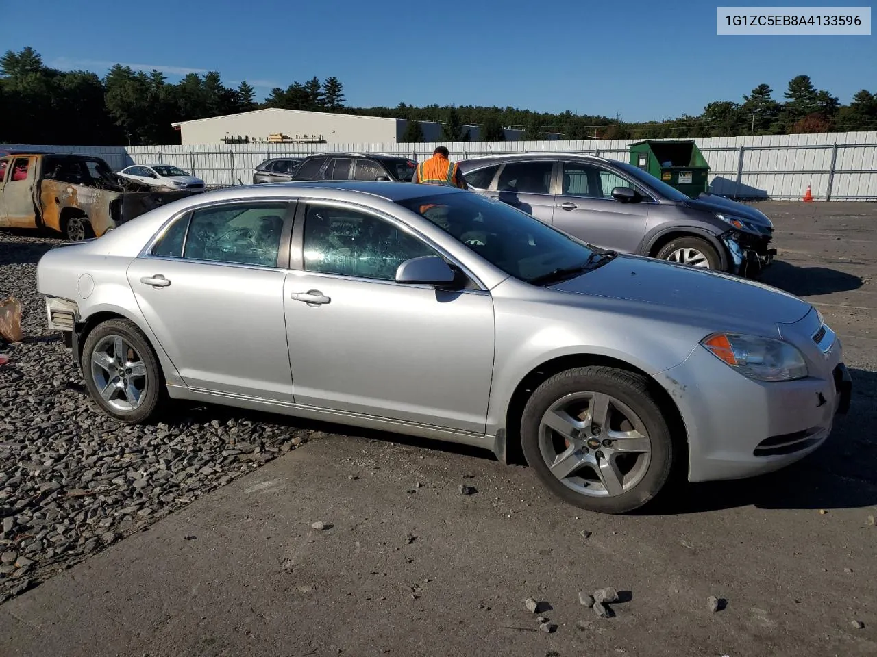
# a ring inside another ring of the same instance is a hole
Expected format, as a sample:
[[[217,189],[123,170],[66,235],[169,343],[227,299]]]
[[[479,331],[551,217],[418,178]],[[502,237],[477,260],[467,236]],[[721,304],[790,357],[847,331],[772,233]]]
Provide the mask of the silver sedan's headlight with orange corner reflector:
[[[807,376],[801,352],[781,340],[714,333],[701,344],[724,364],[755,381],[792,381]]]

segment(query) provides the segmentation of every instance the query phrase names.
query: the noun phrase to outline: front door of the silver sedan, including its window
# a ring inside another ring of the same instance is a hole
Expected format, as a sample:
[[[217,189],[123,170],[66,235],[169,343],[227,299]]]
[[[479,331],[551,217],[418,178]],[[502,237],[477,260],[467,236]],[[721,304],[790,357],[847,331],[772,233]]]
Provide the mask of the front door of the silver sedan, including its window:
[[[283,292],[297,404],[482,434],[494,310],[482,289],[396,283],[437,251],[386,215],[300,202]]]

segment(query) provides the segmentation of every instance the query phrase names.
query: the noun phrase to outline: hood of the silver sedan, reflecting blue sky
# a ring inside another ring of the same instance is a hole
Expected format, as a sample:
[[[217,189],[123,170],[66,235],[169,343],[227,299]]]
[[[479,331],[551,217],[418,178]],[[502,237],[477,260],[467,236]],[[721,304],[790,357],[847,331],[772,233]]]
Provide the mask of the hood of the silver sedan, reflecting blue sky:
[[[799,321],[810,311],[806,301],[752,280],[633,256],[618,256],[552,287],[562,292],[655,304],[689,316],[764,321],[769,325]]]

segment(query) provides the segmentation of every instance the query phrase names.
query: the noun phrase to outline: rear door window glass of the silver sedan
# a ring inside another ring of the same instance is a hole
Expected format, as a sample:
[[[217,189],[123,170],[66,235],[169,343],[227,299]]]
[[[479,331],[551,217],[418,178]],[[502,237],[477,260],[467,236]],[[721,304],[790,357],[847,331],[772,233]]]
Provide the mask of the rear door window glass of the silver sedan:
[[[287,203],[280,201],[197,209],[189,219],[182,258],[275,267],[286,209]],[[176,230],[176,226],[172,228]],[[168,230],[165,236],[169,255],[175,249],[173,240],[177,239],[170,237],[172,232]],[[165,248],[164,241],[156,246],[158,248]]]

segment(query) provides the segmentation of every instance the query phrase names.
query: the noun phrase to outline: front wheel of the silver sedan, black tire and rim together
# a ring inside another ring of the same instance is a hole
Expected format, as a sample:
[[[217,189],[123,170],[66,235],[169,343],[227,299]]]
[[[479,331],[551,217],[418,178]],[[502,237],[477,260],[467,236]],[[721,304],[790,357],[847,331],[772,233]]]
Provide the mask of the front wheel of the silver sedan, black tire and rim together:
[[[605,413],[599,411],[603,406]],[[574,424],[558,422],[556,411],[583,417],[575,423],[581,434],[575,434]],[[562,371],[539,385],[524,407],[521,443],[527,463],[555,495],[600,513],[631,512],[652,500],[681,454],[646,379],[610,367]]]

